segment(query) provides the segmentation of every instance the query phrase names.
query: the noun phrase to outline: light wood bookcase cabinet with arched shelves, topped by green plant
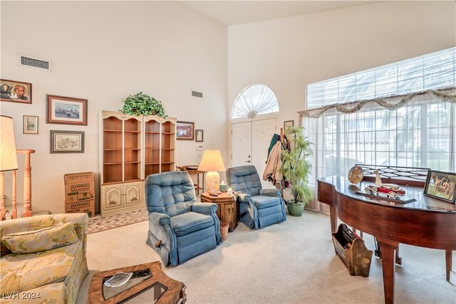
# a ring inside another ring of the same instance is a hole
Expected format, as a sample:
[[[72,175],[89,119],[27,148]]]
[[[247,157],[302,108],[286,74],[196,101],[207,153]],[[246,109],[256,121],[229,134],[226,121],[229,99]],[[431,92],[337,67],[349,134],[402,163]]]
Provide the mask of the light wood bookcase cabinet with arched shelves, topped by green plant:
[[[145,177],[175,168],[176,120],[101,112],[102,216],[145,207]]]

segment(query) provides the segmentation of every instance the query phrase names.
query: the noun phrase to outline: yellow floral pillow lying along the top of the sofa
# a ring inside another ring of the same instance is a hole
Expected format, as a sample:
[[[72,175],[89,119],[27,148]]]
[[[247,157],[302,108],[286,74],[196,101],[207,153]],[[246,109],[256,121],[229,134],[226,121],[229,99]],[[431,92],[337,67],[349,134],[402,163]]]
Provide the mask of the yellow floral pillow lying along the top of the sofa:
[[[78,241],[73,223],[43,229],[6,234],[1,242],[12,253],[36,253],[68,246]]]

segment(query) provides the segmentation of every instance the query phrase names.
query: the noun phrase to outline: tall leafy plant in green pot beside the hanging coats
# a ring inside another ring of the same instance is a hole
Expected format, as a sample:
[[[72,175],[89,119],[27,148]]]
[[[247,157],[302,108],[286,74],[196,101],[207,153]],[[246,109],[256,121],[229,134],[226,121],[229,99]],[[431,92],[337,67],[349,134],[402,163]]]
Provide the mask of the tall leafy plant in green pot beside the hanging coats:
[[[288,180],[293,199],[286,202],[286,207],[291,216],[302,216],[304,206],[314,197],[309,188],[309,174],[311,162],[308,157],[312,155],[311,142],[304,137],[303,127],[287,126],[285,134],[291,140],[289,150],[281,152],[281,172],[284,179]]]

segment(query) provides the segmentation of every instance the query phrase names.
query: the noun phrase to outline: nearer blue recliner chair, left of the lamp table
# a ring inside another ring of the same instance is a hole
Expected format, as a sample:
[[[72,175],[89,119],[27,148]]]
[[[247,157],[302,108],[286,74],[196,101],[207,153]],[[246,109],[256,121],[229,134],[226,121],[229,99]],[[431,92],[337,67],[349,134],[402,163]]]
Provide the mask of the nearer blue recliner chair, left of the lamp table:
[[[182,264],[222,242],[217,204],[198,203],[188,172],[152,174],[145,180],[147,245],[165,266]]]

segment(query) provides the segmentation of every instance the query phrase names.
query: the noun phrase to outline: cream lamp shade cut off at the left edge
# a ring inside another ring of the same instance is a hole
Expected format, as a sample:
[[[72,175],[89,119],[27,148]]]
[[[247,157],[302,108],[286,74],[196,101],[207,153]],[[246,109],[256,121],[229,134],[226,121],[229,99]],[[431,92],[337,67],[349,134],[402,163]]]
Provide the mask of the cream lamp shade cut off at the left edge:
[[[17,169],[13,118],[0,115],[0,171]]]

